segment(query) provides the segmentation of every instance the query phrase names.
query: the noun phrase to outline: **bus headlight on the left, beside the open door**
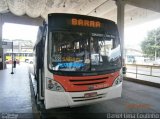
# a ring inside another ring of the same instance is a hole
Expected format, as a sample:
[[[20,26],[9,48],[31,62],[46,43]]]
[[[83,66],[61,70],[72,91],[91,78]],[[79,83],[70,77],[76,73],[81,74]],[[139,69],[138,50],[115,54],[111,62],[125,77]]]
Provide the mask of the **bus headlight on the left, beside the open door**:
[[[46,84],[47,84],[47,89],[51,90],[51,91],[58,91],[58,92],[64,92],[64,88],[61,86],[61,84],[59,84],[58,82],[56,82],[55,80],[51,79],[51,78],[46,78]]]

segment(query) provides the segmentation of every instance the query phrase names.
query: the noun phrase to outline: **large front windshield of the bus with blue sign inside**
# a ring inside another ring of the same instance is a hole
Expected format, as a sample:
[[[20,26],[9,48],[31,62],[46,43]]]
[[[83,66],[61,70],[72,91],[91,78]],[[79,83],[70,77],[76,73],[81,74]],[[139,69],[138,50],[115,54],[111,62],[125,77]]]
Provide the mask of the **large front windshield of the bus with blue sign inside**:
[[[121,68],[119,38],[107,33],[49,33],[49,68],[54,71],[105,71]]]

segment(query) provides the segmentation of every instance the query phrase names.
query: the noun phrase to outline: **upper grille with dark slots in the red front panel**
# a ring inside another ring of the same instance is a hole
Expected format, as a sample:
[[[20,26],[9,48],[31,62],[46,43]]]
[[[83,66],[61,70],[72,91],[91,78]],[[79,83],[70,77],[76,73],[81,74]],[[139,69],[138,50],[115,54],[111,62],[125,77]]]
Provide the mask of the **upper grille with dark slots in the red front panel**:
[[[89,79],[70,79],[69,81],[75,86],[88,86],[105,83],[109,77],[89,78]]]

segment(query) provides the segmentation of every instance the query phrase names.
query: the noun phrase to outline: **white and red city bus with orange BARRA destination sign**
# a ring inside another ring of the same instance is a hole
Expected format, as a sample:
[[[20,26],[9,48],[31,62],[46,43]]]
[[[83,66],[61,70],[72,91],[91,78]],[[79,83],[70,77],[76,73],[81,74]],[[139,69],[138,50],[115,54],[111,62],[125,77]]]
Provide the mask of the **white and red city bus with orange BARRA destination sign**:
[[[121,97],[122,54],[115,22],[51,13],[34,46],[36,102],[45,109]]]

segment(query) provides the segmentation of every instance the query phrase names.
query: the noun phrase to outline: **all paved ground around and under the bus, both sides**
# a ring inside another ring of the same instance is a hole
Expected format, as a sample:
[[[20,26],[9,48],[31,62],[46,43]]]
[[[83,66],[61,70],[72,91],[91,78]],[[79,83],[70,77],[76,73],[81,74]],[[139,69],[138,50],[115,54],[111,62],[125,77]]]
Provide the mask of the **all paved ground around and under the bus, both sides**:
[[[39,114],[36,110],[34,97],[31,96],[33,92],[30,92],[27,67],[28,64],[25,63],[18,65],[14,69],[13,75],[10,74],[11,67],[3,71],[0,70],[0,118],[8,114],[10,114],[8,116],[14,117],[35,118],[34,113]],[[41,112],[41,117],[53,119],[82,119],[85,117],[106,119],[107,117],[112,118],[112,113],[128,113],[125,116],[134,118],[135,113],[160,113],[159,102],[159,88],[124,81],[122,98],[82,107],[44,110]]]

